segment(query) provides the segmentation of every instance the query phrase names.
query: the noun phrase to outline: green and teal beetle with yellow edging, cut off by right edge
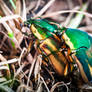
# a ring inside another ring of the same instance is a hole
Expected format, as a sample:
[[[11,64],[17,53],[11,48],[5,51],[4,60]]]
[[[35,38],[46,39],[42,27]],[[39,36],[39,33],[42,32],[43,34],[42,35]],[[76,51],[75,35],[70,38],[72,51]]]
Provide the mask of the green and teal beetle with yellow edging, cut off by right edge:
[[[92,37],[84,31],[67,28],[61,39],[69,47],[69,54],[74,54],[84,81],[92,81]]]

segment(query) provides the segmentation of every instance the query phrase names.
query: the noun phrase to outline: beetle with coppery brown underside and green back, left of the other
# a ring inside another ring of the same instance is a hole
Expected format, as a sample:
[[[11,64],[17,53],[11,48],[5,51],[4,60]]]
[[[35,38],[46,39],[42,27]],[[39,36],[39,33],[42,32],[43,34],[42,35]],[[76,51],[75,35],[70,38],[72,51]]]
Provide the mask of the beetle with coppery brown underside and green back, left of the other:
[[[72,71],[72,65],[69,64],[67,58],[59,50],[61,47],[61,39],[55,34],[58,30],[57,25],[43,19],[30,19],[24,22],[29,26],[35,43],[38,45],[38,50],[42,55],[47,56],[54,69],[62,76],[66,76]]]

